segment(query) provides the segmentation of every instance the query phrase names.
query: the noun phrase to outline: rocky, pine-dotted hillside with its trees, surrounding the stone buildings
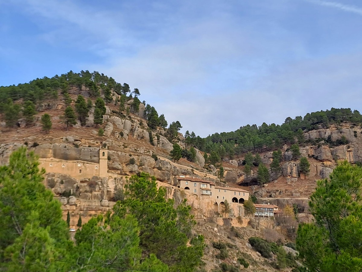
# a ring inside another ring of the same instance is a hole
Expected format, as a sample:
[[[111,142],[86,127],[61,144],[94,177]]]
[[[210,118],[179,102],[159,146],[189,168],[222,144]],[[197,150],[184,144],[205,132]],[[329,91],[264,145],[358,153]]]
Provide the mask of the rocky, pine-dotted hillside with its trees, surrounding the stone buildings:
[[[201,138],[193,132],[179,133],[178,121],[168,126],[165,116],[140,102],[139,96],[139,90],[131,92],[126,83],[88,71],[0,87],[0,165],[7,164],[18,147],[33,150],[46,169],[46,187],[62,203],[63,219],[70,213],[71,228],[77,228],[79,216],[85,223],[111,211],[128,178],[149,173],[166,187],[167,197],[176,205],[188,199],[198,222],[194,231],[204,234],[208,244],[203,269],[219,267],[221,261],[215,259],[217,250],[211,244],[220,239],[235,244],[226,263],[234,265],[243,255],[251,263],[247,271],[274,271],[273,260],[258,256],[247,238],[266,237],[262,229],[271,226],[281,231],[280,222],[256,224],[249,218],[240,223],[236,218],[247,216],[239,203],[231,203],[230,212],[223,216],[215,211],[211,198],[201,201],[182,190],[178,177],[245,189],[257,203],[281,209],[299,205],[297,217],[302,222],[310,220],[307,203],[316,180],[328,177],[338,161],[362,162],[358,111],[332,108],[287,118],[282,125],[247,125]],[[69,108],[76,115],[74,121],[64,117]],[[42,122],[45,114],[52,123],[49,132]],[[182,149],[179,160],[170,154],[174,144]],[[308,173],[300,166],[304,158],[310,165]],[[268,175],[261,182],[258,169],[263,165]],[[230,239],[233,224],[243,238]]]

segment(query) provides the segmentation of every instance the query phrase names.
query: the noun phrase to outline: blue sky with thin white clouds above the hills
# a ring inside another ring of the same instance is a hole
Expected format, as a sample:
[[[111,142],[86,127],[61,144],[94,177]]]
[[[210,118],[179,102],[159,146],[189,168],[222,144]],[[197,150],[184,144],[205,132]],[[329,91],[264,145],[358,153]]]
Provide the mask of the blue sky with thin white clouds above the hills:
[[[0,86],[98,71],[205,137],[362,111],[358,0],[0,0]]]

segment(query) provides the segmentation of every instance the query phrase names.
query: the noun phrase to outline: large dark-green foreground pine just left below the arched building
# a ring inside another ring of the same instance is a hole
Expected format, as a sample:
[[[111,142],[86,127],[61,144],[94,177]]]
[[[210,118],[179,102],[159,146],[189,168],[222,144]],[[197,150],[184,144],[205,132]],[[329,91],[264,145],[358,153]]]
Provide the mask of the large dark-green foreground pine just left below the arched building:
[[[191,234],[196,222],[186,201],[175,209],[173,199],[165,199],[165,192],[164,187],[157,189],[156,178],[149,174],[132,176],[125,200],[114,205],[112,217],[134,215],[143,251],[155,254],[170,271],[194,271],[202,257],[203,237]]]

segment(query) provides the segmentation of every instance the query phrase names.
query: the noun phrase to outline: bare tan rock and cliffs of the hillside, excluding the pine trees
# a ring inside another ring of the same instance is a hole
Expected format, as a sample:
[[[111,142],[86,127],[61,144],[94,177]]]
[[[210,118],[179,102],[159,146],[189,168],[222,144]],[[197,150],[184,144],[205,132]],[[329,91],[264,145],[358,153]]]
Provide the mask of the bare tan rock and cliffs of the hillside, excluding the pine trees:
[[[191,204],[190,194],[177,187],[176,177],[182,174],[211,181],[217,186],[243,186],[243,189],[249,190],[257,197],[259,203],[270,202],[283,208],[287,204],[298,202],[307,207],[308,197],[315,189],[316,180],[328,177],[338,161],[348,160],[352,163],[362,161],[362,129],[358,121],[353,122],[351,118],[342,118],[342,121],[331,122],[328,125],[319,123],[309,127],[303,123],[304,129],[301,134],[300,125],[294,127],[291,125],[289,128],[291,136],[283,136],[285,139],[279,144],[277,142],[283,138],[274,137],[273,131],[268,133],[266,130],[260,134],[262,135],[260,139],[268,141],[271,135],[272,144],[254,145],[250,149],[246,148],[248,145],[240,137],[255,139],[257,133],[255,130],[253,132],[253,129],[251,134],[243,135],[238,132],[239,138],[234,135],[233,139],[229,136],[226,139],[227,137],[221,134],[220,139],[217,137],[216,139],[214,135],[206,139],[193,137],[196,139],[193,142],[190,141],[189,135],[184,137],[181,133],[177,133],[177,129],[175,133],[172,125],[166,129],[165,125],[161,126],[161,122],[153,124],[152,118],[149,118],[152,115],[150,105],[141,103],[137,97],[130,96],[125,99],[125,107],[121,111],[119,101],[127,93],[123,91],[127,89],[126,83],[119,86],[119,83],[113,83],[110,79],[99,79],[97,84],[92,85],[89,82],[95,81],[91,79],[85,82],[76,82],[78,79],[75,78],[71,80],[74,82],[66,84],[57,79],[59,82],[56,84],[51,79],[49,86],[54,85],[53,87],[47,89],[48,87],[43,86],[47,90],[47,95],[43,99],[34,98],[31,120],[29,114],[26,115],[26,107],[29,106],[26,101],[32,99],[31,95],[38,96],[37,92],[41,93],[39,91],[42,88],[41,83],[31,83],[37,84],[37,88],[31,87],[30,84],[31,88],[28,86],[30,90],[26,89],[28,88],[26,86],[20,86],[21,91],[16,89],[14,92],[0,88],[0,98],[3,98],[2,101],[8,101],[0,105],[0,164],[7,164],[10,153],[22,145],[33,150],[39,156],[40,166],[46,169],[45,185],[63,205],[64,219],[67,213],[70,213],[72,228],[76,228],[79,215],[85,223],[97,214],[111,210],[115,201],[122,197],[121,191],[127,178],[139,172],[155,176],[160,185],[167,187],[167,196],[173,198],[176,205],[184,198],[188,198]],[[113,84],[108,84],[109,90],[106,90],[105,81]],[[101,92],[94,95],[94,92],[99,90]],[[67,127],[64,124],[64,111],[67,106],[77,108],[76,101],[79,96],[88,99],[88,114],[83,123],[81,118],[77,118],[75,124]],[[104,98],[107,105],[104,106],[105,112],[102,114],[101,124],[98,125],[95,121],[97,119],[95,111],[99,97]],[[16,107],[18,107],[18,118],[11,119],[13,116],[10,110]],[[49,114],[52,122],[49,133],[43,131],[41,119],[44,114]],[[152,116],[158,118],[157,112]],[[99,128],[104,129],[103,135],[99,132]],[[262,131],[264,128],[265,126],[261,126],[256,129]],[[235,139],[241,140],[236,143]],[[292,143],[295,142],[299,145],[298,156],[290,150]],[[194,146],[196,151],[194,160],[181,158],[176,162],[172,161],[170,152],[174,143],[180,145],[182,149]],[[235,149],[231,150],[231,145]],[[237,149],[241,146],[244,148]],[[223,152],[223,148],[228,152]],[[278,149],[281,151],[279,168],[271,171],[273,152]],[[210,157],[215,150],[219,152],[217,155],[220,161],[211,164]],[[253,156],[259,154],[261,159],[261,162],[251,166],[250,174],[245,170],[245,157],[248,151],[252,151]],[[209,157],[205,156],[205,152],[209,153]],[[306,157],[310,163],[308,174],[301,172],[299,163],[302,157]],[[258,184],[257,175],[260,163],[266,165],[270,173],[268,182],[262,187]],[[224,171],[222,176],[220,176],[221,167]],[[227,227],[227,224],[216,225],[214,215],[210,216],[214,214],[213,206],[204,208],[202,211],[193,210],[197,215],[197,230],[205,234],[209,243],[223,236],[227,241],[230,227]],[[223,231],[217,232],[214,228]],[[261,232],[252,228],[243,232],[245,238],[263,236]],[[235,256],[227,260],[230,264],[235,264],[237,255],[243,251],[252,256],[249,258],[251,263],[253,260],[258,260],[250,269],[273,270],[269,264],[261,264],[262,257],[248,248],[245,239],[235,239],[234,243],[238,250],[233,253]],[[220,263],[220,260],[210,258],[214,253],[211,249],[206,252],[207,269]]]

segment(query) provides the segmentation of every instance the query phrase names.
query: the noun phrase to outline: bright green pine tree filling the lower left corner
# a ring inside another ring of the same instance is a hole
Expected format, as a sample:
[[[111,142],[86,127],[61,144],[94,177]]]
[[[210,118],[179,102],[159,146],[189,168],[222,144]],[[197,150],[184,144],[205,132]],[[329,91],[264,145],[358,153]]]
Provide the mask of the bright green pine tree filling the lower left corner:
[[[21,147],[0,167],[0,267],[5,271],[55,271],[70,249],[60,202],[43,185],[44,170]]]

